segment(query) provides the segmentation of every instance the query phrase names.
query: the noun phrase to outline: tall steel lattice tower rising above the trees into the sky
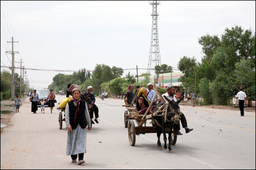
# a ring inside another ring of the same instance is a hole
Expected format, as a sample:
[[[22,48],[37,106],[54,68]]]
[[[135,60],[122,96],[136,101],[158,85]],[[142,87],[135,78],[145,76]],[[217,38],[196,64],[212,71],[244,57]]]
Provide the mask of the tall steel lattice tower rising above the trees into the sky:
[[[160,5],[160,1],[150,1],[150,5],[153,6],[152,16],[152,32],[151,32],[151,45],[150,45],[150,57],[148,59],[147,72],[153,72],[152,69],[156,65],[161,66],[161,57],[158,42],[158,26],[157,26],[157,5]]]

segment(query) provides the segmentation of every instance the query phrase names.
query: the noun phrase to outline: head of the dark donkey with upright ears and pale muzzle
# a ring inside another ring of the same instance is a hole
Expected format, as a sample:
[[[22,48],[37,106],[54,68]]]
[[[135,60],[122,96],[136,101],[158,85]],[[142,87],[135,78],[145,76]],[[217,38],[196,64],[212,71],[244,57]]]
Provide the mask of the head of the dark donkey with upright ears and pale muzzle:
[[[169,103],[167,109],[167,121],[174,122],[175,124],[179,124],[180,122],[180,107],[179,103],[183,100],[184,96],[179,99],[177,102],[170,101],[166,96],[164,96],[166,101]]]

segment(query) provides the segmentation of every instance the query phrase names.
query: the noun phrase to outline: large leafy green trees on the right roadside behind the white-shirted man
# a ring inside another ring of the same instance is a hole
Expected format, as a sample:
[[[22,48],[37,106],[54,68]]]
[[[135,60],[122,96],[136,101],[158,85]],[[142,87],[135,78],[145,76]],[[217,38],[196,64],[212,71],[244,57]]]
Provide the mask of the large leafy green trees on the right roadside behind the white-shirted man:
[[[205,105],[228,105],[238,92],[235,85],[255,100],[255,31],[234,26],[226,28],[220,38],[207,34],[198,42],[204,54],[201,62],[184,56],[178,63],[185,74],[179,79],[183,88],[196,89]]]

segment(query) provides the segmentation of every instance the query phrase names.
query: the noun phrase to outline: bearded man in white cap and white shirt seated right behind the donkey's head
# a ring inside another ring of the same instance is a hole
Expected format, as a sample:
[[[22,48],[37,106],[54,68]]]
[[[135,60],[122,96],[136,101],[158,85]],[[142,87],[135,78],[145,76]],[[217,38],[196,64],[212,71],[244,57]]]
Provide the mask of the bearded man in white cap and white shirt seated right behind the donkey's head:
[[[163,96],[163,99],[165,100],[164,96],[166,96],[170,101],[174,101],[176,102],[176,95],[174,95],[174,86],[173,85],[169,85],[167,88],[166,88],[167,92],[164,93],[162,96]],[[165,100],[165,102],[167,102]],[[187,120],[186,120],[186,117],[184,114],[181,114],[181,117],[180,117],[180,122],[182,124],[182,127],[185,128],[185,131],[186,133],[189,133],[190,131],[193,131],[193,129],[189,129],[187,127]],[[182,135],[182,133],[180,132],[180,124],[174,124],[174,131],[177,135]]]

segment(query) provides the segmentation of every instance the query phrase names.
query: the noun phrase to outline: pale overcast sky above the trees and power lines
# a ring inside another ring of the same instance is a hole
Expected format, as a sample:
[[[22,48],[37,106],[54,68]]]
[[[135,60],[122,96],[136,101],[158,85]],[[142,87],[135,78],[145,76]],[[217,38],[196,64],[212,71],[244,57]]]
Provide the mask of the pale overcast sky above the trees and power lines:
[[[11,51],[7,41],[13,36],[18,41],[14,51],[19,52],[15,61],[22,59],[25,68],[147,68],[151,13],[149,1],[1,1],[1,66],[11,66],[6,51]],[[158,13],[161,63],[174,69],[183,56],[201,62],[201,36],[220,38],[236,25],[255,32],[255,1],[161,1]],[[136,70],[125,70],[123,76],[128,71],[136,75]],[[20,69],[15,72],[20,74]],[[144,72],[138,70],[139,75]],[[73,74],[29,69],[26,73],[35,89],[47,88],[59,73]]]

